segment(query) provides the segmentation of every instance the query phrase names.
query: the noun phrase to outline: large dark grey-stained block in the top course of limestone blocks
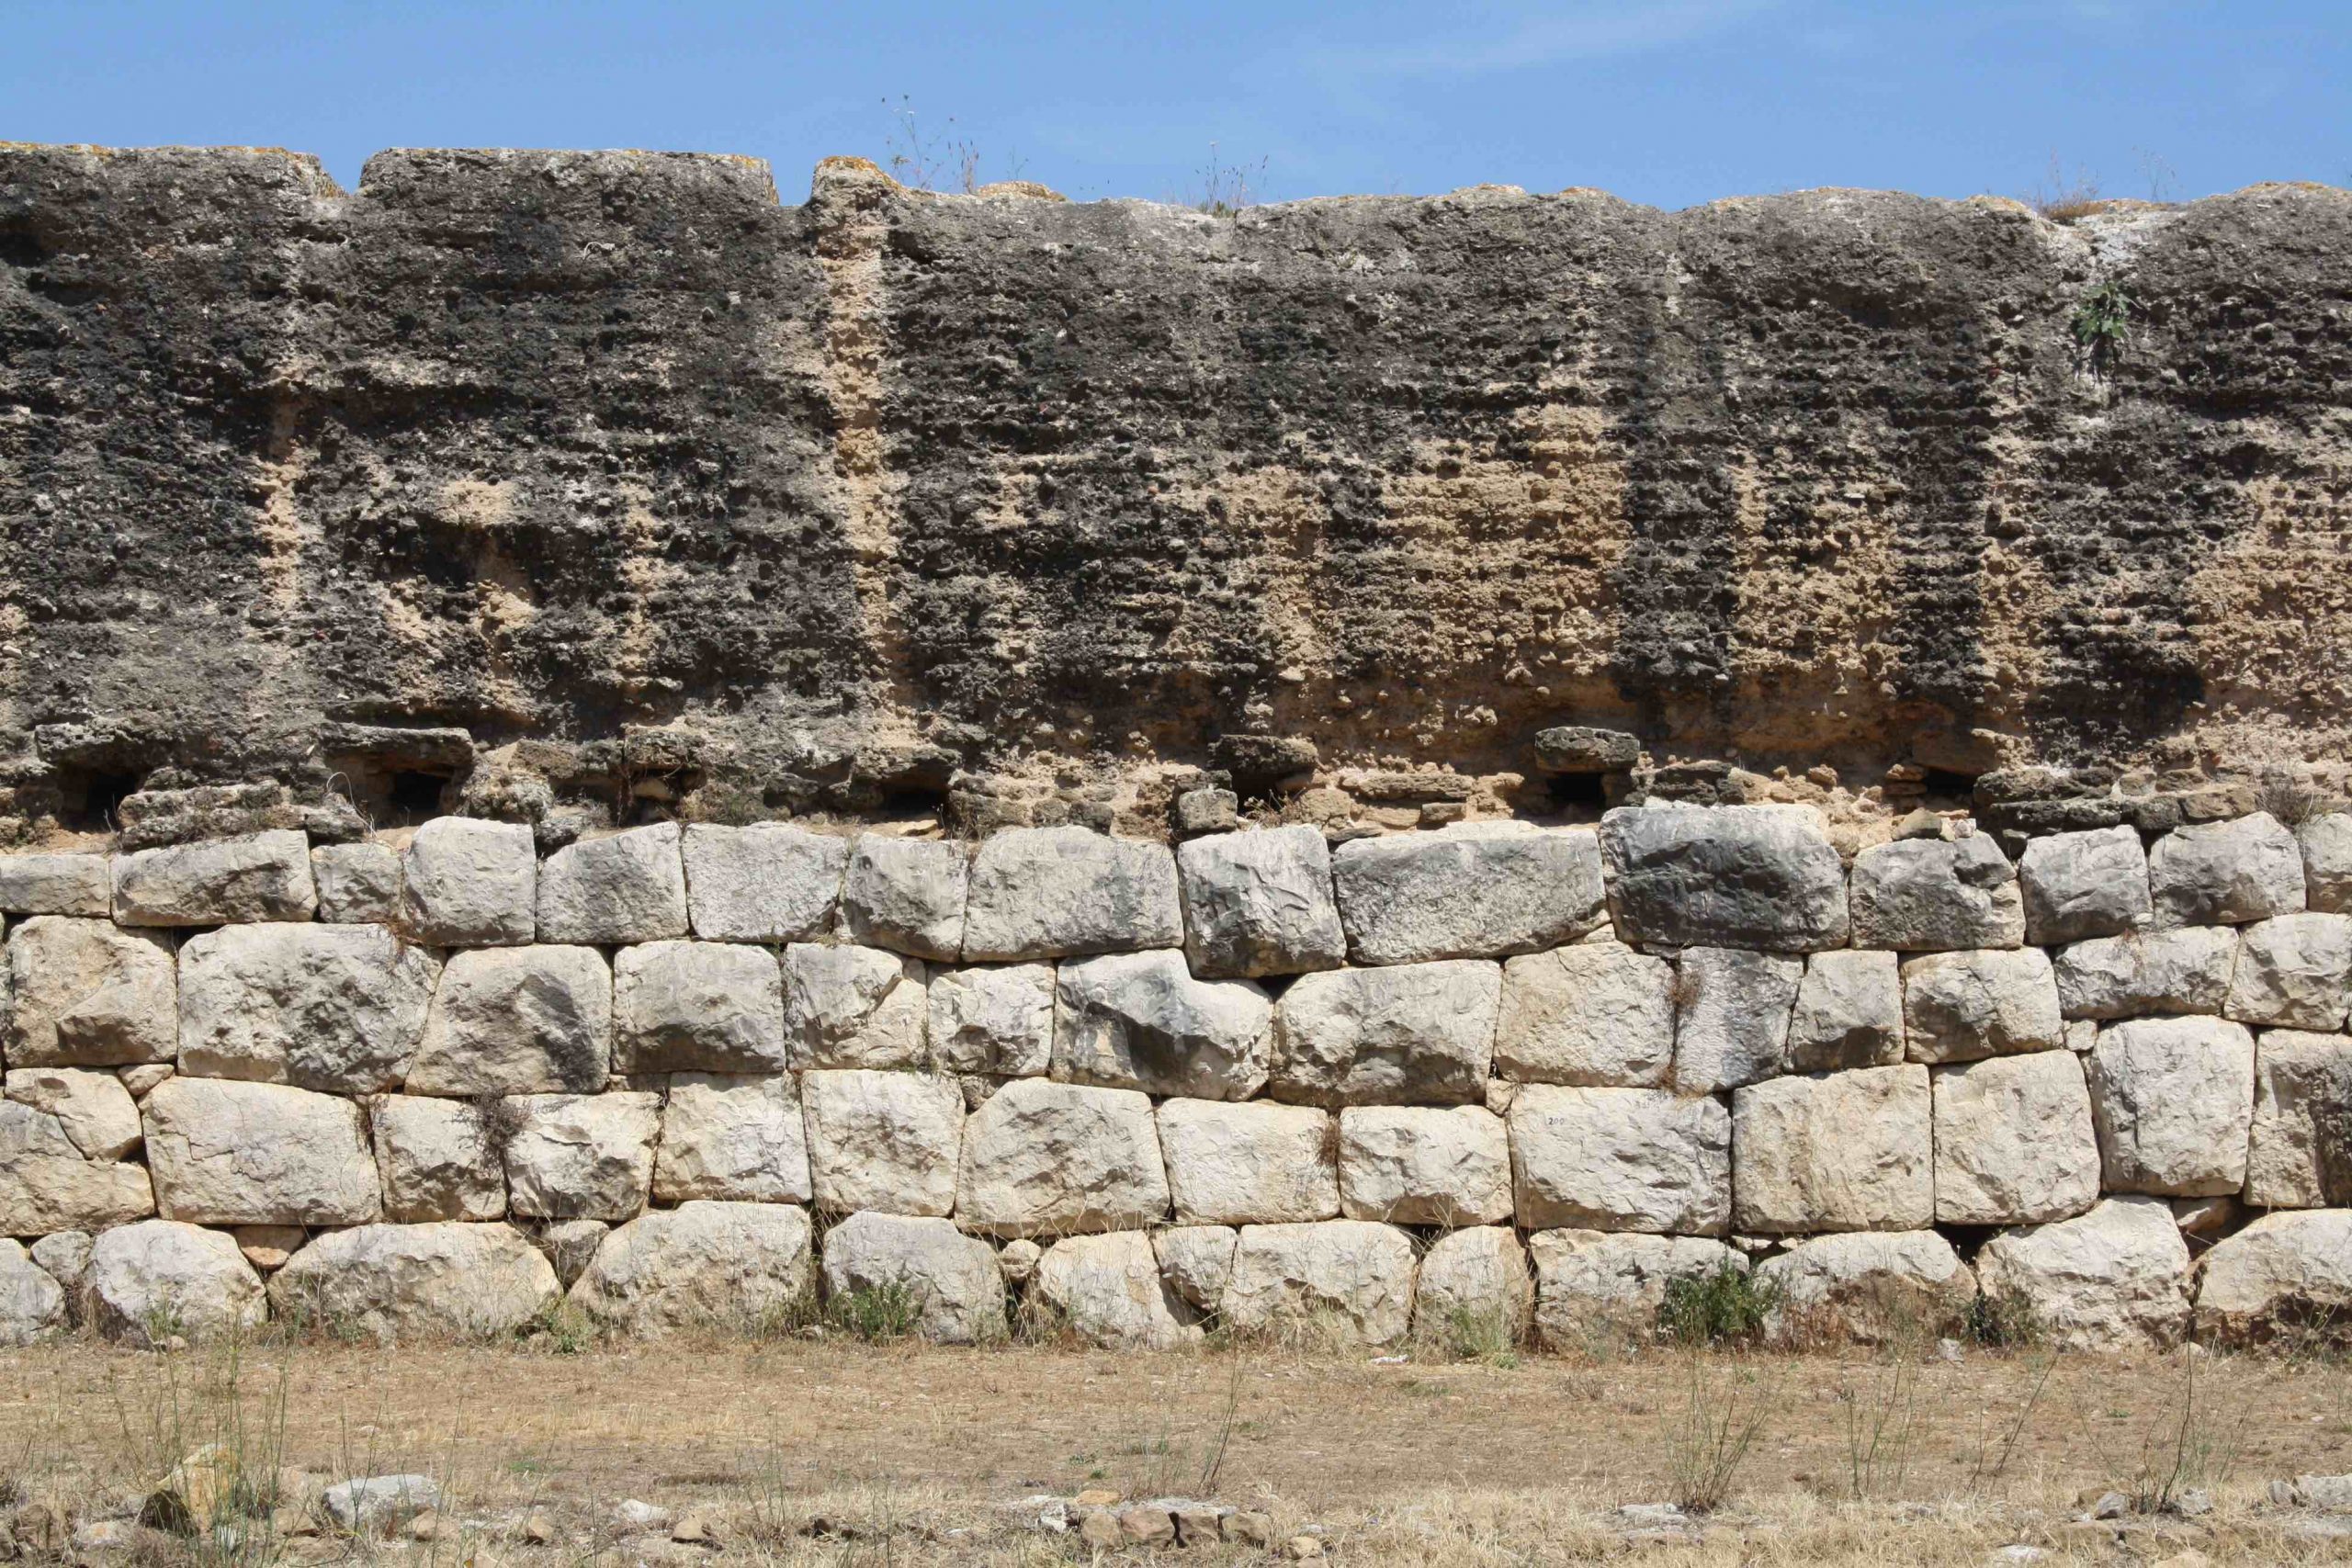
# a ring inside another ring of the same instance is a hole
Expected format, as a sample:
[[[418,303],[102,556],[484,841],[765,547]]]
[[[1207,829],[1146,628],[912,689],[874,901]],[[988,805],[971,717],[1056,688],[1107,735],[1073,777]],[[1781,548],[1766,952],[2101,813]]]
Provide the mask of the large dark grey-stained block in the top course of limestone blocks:
[[[1844,947],[1846,867],[1788,806],[1632,806],[1602,816],[1618,936],[1668,947]]]

